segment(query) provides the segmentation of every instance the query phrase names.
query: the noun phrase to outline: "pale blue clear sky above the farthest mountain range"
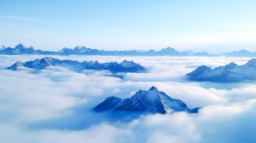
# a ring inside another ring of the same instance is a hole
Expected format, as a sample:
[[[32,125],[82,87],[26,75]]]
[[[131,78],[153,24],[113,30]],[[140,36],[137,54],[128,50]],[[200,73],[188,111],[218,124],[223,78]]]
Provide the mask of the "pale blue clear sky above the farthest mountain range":
[[[0,45],[256,51],[256,1],[0,1]]]

